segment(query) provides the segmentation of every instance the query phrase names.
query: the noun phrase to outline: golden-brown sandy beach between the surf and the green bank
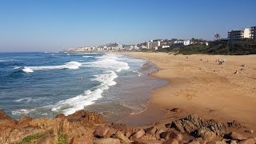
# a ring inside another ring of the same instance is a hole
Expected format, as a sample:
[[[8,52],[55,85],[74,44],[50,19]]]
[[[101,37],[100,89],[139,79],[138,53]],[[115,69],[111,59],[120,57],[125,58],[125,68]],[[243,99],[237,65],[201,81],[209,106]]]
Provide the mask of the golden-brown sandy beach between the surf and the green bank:
[[[198,114],[219,122],[237,120],[256,128],[256,55],[127,54],[156,64],[159,72],[152,76],[164,78],[169,84],[153,90],[143,114],[130,115],[121,122],[142,126]],[[216,59],[226,62],[218,65]],[[238,74],[234,74],[236,70]],[[175,107],[182,112],[166,110]]]

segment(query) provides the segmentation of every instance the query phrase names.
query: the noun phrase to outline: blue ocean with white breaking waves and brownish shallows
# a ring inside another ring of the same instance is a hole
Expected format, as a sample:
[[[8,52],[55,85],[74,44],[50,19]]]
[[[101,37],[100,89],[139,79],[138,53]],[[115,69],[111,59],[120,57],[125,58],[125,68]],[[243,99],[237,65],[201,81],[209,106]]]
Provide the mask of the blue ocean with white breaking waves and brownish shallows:
[[[85,109],[114,122],[146,110],[152,89],[166,84],[148,75],[156,69],[123,54],[0,53],[0,109],[16,119]]]

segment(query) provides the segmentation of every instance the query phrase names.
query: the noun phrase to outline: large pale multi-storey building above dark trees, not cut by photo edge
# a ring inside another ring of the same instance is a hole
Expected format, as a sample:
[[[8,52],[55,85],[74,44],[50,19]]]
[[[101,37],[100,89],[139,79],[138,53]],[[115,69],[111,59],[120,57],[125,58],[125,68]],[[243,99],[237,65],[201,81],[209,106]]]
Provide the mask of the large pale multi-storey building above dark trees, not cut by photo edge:
[[[239,41],[245,38],[250,38],[250,29],[231,30],[228,32],[228,39],[230,41]]]

